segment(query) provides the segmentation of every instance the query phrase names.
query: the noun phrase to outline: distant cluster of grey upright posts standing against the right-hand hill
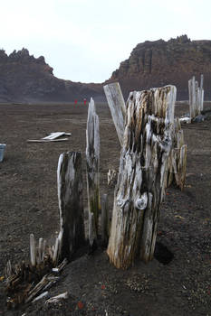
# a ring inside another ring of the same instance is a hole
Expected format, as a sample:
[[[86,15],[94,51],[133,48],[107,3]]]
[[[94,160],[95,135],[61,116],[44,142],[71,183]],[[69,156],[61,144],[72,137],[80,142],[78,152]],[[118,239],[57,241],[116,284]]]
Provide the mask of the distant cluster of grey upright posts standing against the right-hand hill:
[[[204,107],[204,88],[203,88],[204,76],[201,75],[200,86],[193,76],[192,79],[188,80],[188,91],[189,91],[189,111],[190,118],[193,120],[196,116],[201,114]]]

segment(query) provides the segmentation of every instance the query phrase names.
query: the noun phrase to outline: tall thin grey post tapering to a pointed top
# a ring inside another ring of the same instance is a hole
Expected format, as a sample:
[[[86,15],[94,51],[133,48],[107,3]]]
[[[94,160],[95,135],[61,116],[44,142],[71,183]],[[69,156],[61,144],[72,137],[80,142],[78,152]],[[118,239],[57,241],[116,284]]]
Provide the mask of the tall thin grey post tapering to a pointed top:
[[[89,216],[89,228],[95,230],[93,232],[90,231],[89,236],[91,236],[90,243],[93,243],[92,239],[95,239],[95,237],[98,235],[100,209],[100,135],[99,117],[96,114],[96,109],[92,98],[88,109],[86,143],[88,206],[89,213],[93,214],[93,218],[91,214]]]

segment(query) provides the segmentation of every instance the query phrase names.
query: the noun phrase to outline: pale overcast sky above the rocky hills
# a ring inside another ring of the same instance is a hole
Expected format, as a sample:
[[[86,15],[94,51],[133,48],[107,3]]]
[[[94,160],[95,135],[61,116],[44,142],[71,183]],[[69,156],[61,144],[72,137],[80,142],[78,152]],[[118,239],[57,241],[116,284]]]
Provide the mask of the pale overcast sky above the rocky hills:
[[[102,82],[144,41],[211,40],[210,0],[1,0],[0,48],[44,56],[54,76]]]

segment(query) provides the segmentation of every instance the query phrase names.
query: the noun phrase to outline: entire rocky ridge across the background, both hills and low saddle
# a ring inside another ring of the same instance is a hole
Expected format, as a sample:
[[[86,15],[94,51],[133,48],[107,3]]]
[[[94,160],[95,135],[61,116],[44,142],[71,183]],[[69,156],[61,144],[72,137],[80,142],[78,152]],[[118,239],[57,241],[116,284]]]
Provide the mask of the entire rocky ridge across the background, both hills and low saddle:
[[[205,98],[211,99],[211,41],[190,41],[187,35],[168,42],[139,43],[105,83],[119,81],[125,98],[129,91],[173,84],[177,99],[188,99],[187,82],[204,74]],[[105,84],[104,83],[104,84]],[[53,76],[43,56],[29,51],[0,51],[0,102],[73,101],[105,99],[102,84],[84,84]]]

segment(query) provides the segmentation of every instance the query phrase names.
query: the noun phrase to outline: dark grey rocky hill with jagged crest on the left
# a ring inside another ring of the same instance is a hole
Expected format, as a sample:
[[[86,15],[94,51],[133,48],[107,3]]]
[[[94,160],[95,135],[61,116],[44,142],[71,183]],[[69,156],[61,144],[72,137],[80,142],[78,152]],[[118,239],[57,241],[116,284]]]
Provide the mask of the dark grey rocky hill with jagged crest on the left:
[[[82,84],[53,76],[43,56],[29,51],[0,51],[0,102],[73,101],[103,95],[100,84]]]

